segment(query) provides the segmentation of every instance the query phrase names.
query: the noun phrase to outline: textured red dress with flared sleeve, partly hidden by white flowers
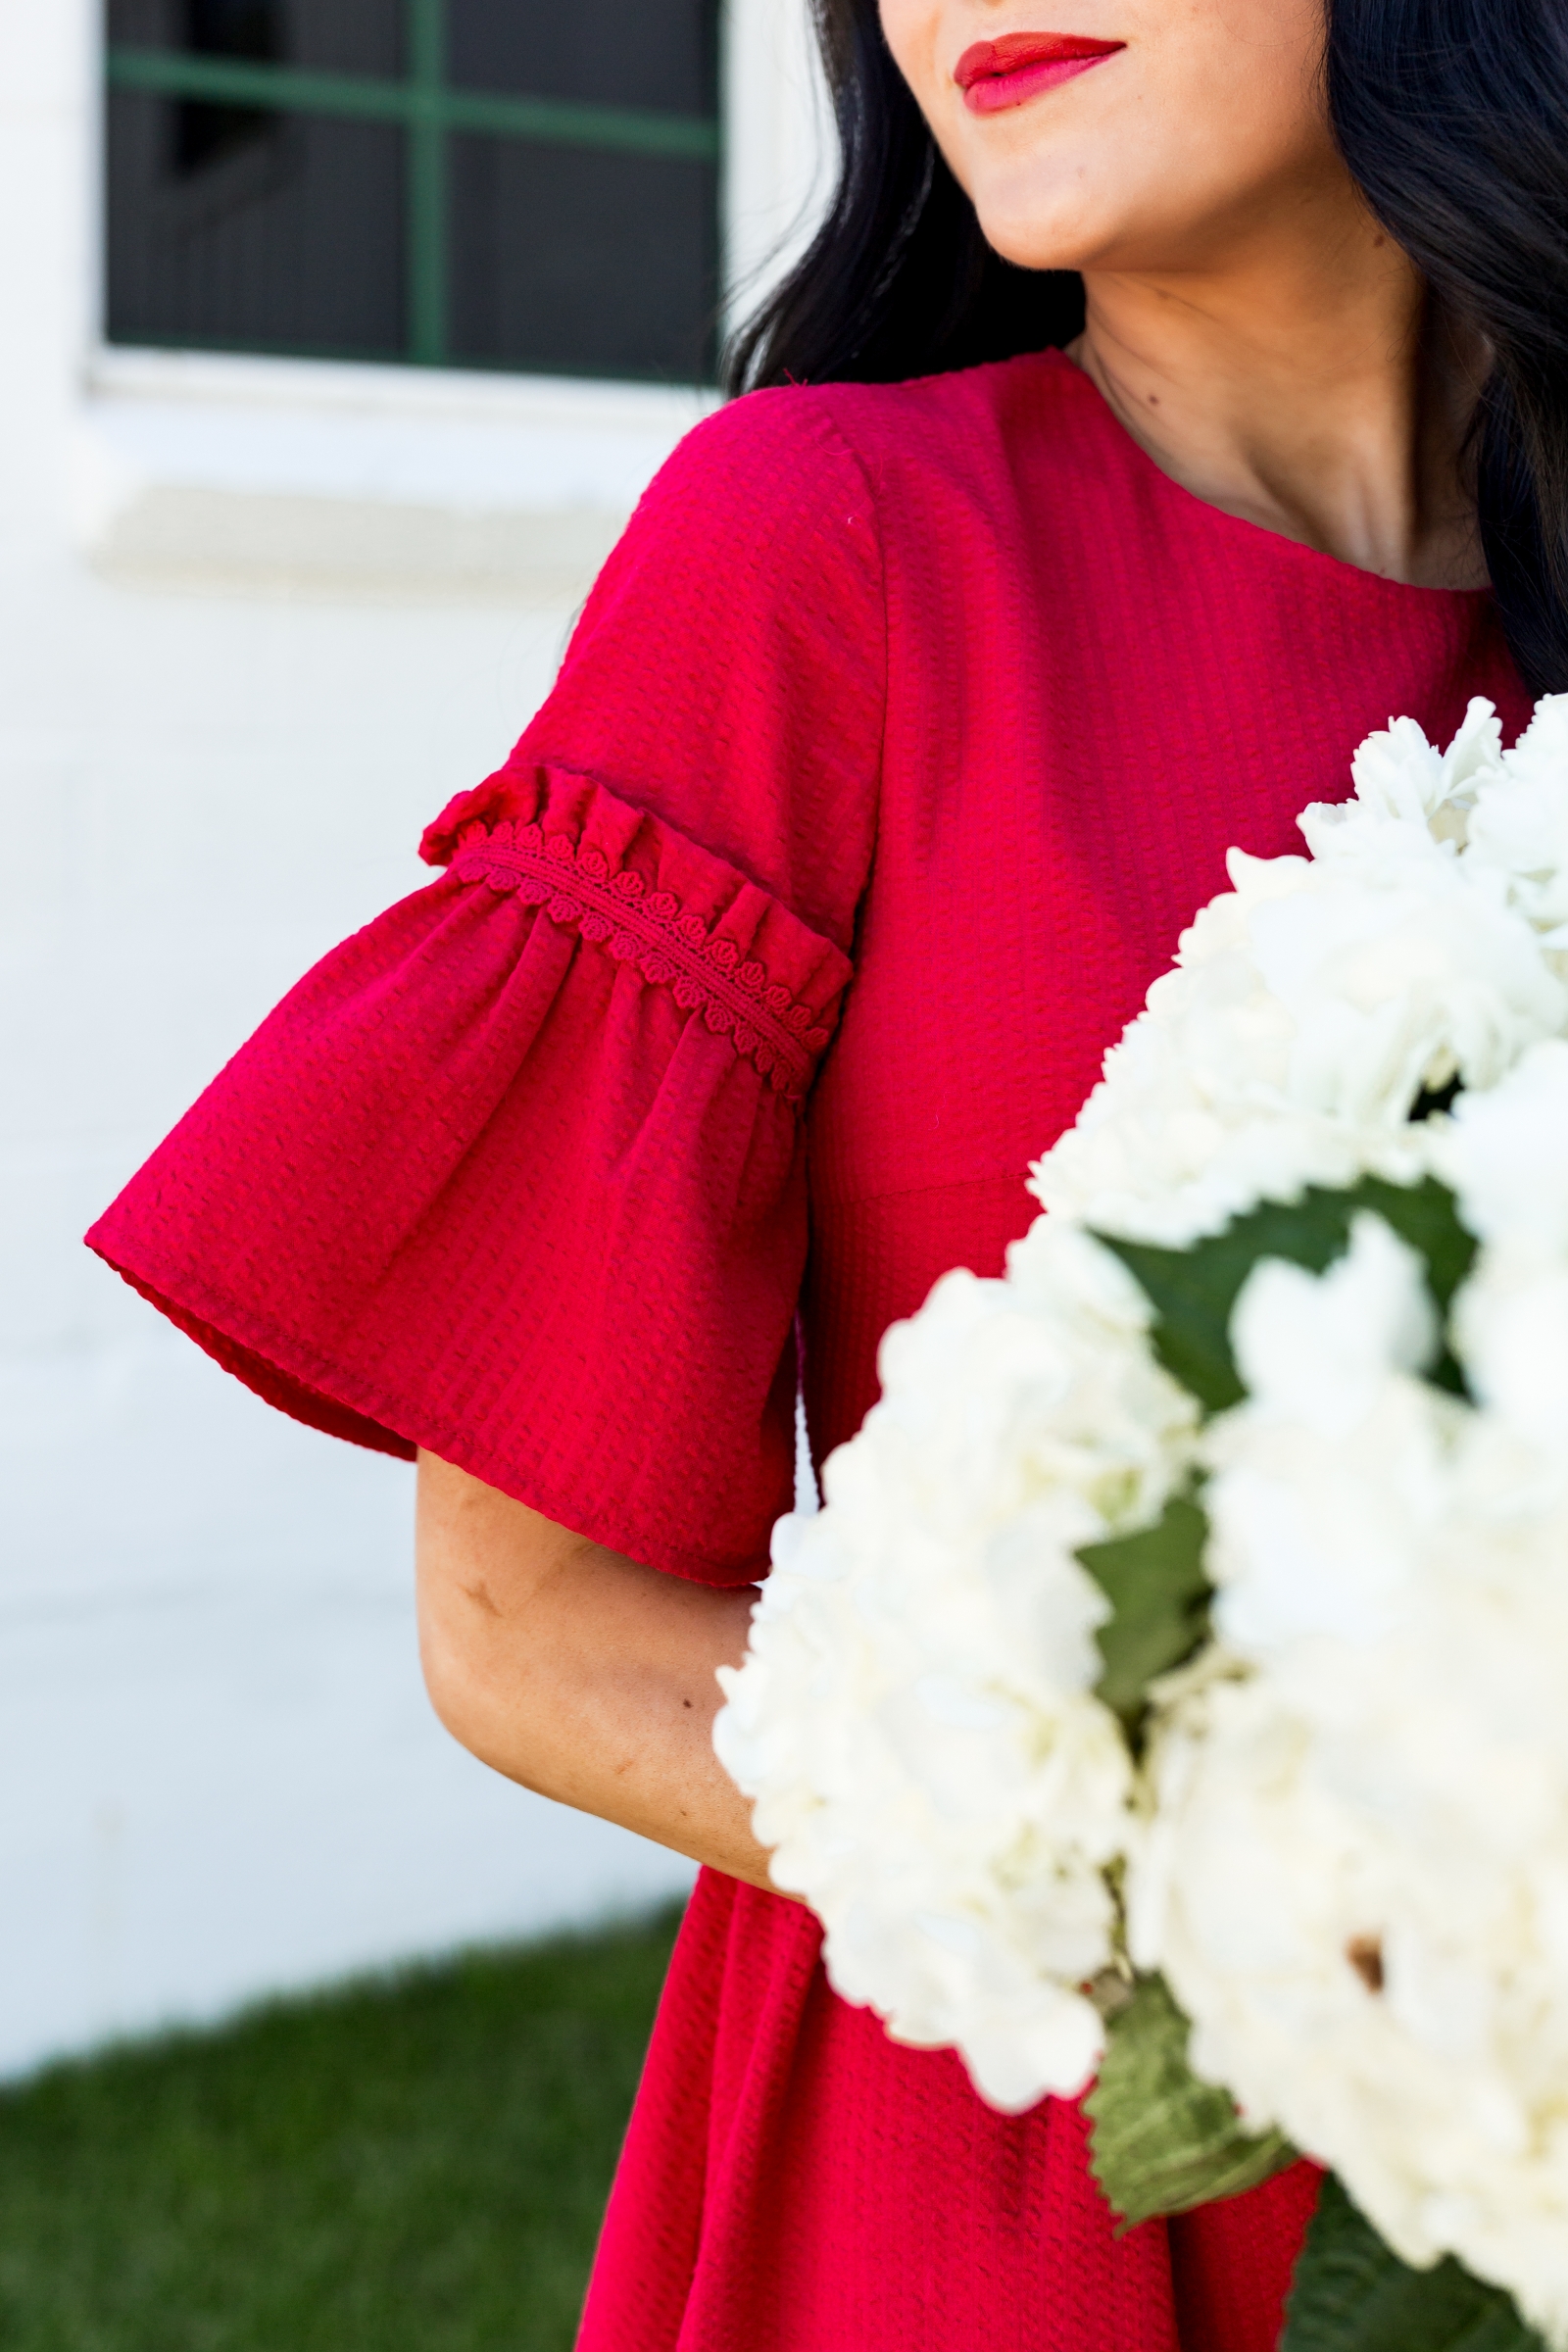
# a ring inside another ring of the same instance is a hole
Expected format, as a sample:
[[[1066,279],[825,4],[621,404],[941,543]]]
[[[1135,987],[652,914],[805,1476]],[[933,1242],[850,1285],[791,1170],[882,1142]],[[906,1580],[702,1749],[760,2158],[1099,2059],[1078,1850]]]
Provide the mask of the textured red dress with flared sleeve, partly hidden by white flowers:
[[[263,1397],[743,1585],[1222,887],[1392,713],[1526,699],[1483,595],[1201,506],[1058,358],[736,402],[562,680],[96,1225]],[[1072,2105],[992,2114],[705,1872],[585,2352],[1267,2352],[1314,2194],[1117,2237]]]

